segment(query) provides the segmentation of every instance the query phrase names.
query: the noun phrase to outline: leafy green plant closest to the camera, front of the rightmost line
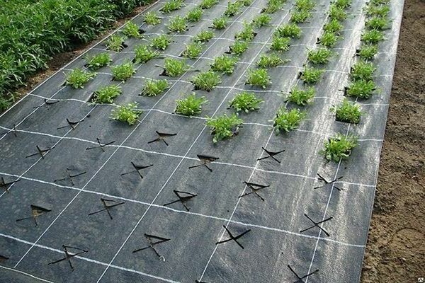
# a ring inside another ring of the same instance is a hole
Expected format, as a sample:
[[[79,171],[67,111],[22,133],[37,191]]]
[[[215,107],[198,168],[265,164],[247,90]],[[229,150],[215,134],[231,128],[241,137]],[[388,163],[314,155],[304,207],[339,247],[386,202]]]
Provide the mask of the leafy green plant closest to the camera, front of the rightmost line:
[[[357,146],[357,137],[344,134],[336,134],[335,137],[329,138],[324,142],[324,149],[319,151],[320,154],[329,161],[339,162],[348,158],[351,150]]]

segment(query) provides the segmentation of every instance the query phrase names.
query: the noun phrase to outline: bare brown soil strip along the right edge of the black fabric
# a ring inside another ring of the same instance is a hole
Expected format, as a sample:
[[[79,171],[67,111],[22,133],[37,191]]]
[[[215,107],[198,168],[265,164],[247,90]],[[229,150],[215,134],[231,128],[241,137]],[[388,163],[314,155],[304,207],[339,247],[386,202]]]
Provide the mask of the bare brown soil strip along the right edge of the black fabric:
[[[425,1],[405,0],[362,283],[425,277]]]

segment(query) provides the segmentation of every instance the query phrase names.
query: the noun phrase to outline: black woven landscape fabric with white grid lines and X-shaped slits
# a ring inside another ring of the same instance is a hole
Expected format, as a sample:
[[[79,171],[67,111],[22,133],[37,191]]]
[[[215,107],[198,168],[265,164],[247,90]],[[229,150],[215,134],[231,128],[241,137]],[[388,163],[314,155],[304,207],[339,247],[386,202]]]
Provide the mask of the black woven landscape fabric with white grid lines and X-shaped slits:
[[[391,27],[375,57],[377,93],[358,100],[358,125],[336,122],[329,111],[344,98],[365,23],[365,1],[346,8],[337,54],[324,68],[314,102],[298,129],[276,135],[273,118],[282,93],[296,84],[307,52],[327,21],[330,1],[319,0],[302,35],[269,69],[271,86],[245,84],[247,70],[269,50],[277,25],[288,23],[294,1],[273,13],[271,25],[239,58],[233,74],[210,92],[195,91],[208,103],[192,118],[174,114],[176,99],[193,91],[198,70],[229,50],[235,33],[261,13],[254,0],[213,30],[227,2],[205,9],[198,23],[171,34],[162,58],[135,64],[120,83],[115,105],[91,103],[111,81],[111,68],[98,69],[83,89],[64,86],[65,74],[84,68],[86,55],[111,54],[111,65],[134,57],[135,46],[167,33],[169,17],[185,16],[199,1],[186,1],[162,14],[162,23],[133,21],[145,31],[125,40],[121,52],[99,42],[0,117],[0,282],[358,282],[373,207],[380,149],[385,132],[403,1],[390,2]],[[179,57],[201,30],[215,34],[193,68],[182,76],[162,76],[164,57]],[[120,31],[118,31],[120,33]],[[159,96],[139,96],[146,78],[171,83]],[[205,117],[234,110],[229,101],[241,91],[264,100],[261,109],[240,114],[244,125],[231,139],[212,142]],[[139,122],[111,120],[116,105],[137,102]],[[288,108],[296,105],[288,104]],[[170,135],[158,134],[165,133]],[[359,145],[341,163],[319,154],[337,132],[358,136]],[[152,142],[150,142],[152,141]],[[167,145],[168,144],[168,145]]]

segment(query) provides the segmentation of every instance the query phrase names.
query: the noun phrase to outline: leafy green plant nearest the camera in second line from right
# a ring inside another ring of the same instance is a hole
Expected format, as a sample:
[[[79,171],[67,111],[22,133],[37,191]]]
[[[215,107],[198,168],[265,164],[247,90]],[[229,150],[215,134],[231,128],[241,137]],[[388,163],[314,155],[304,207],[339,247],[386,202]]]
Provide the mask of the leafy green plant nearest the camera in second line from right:
[[[276,134],[281,132],[290,132],[300,125],[301,121],[305,118],[306,112],[300,109],[288,110],[285,106],[278,109],[276,117],[273,120],[273,127],[276,130]]]

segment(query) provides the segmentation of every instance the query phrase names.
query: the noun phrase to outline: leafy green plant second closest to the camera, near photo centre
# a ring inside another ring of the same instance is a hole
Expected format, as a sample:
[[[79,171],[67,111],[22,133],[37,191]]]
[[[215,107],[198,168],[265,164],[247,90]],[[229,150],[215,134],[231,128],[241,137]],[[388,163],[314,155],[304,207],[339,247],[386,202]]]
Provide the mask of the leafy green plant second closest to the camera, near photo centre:
[[[231,116],[225,114],[217,118],[207,118],[206,125],[210,127],[211,134],[214,134],[212,142],[216,143],[217,141],[229,139],[236,135],[243,122],[236,114]]]

